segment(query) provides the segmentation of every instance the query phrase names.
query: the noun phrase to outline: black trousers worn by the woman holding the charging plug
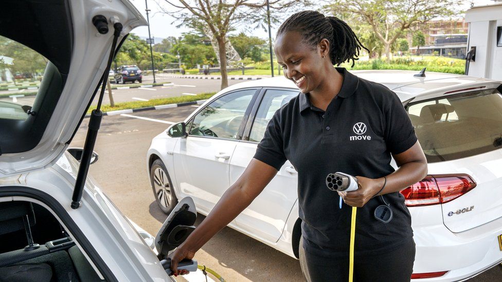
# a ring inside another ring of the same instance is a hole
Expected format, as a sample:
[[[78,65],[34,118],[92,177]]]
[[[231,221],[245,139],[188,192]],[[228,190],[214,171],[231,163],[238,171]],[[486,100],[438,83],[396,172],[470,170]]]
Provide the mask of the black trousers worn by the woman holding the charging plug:
[[[357,248],[357,246],[356,246]],[[349,280],[349,256],[330,258],[305,250],[311,282]],[[415,261],[415,242],[409,238],[396,250],[374,255],[355,255],[354,282],[405,282],[410,280]]]

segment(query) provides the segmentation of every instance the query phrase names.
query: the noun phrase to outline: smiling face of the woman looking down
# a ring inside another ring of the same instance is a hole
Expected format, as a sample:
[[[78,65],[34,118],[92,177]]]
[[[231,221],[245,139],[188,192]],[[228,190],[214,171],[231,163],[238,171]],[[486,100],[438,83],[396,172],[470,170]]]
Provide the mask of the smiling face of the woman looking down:
[[[316,90],[326,76],[327,42],[323,40],[317,46],[309,45],[303,42],[297,31],[282,33],[275,41],[274,51],[284,77],[296,83],[302,93]],[[326,57],[322,58],[323,55]]]

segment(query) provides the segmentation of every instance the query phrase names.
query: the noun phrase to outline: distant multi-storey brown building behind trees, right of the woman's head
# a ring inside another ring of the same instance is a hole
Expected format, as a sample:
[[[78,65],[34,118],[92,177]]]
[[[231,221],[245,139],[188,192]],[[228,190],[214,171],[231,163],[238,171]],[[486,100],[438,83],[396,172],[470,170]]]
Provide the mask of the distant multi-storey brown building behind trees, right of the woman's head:
[[[421,30],[425,35],[425,45],[412,46],[413,31],[408,35],[409,49],[412,54],[437,54],[452,58],[465,58],[467,50],[468,24],[463,18],[431,21],[413,30]]]

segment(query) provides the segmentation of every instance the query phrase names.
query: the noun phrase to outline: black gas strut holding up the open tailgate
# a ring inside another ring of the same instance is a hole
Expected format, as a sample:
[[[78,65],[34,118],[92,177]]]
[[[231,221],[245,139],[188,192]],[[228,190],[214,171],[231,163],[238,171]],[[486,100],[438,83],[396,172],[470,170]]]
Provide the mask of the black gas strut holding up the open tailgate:
[[[75,180],[75,189],[73,190],[73,196],[71,197],[71,209],[78,209],[82,205],[80,201],[82,199],[82,192],[85,185],[85,179],[87,179],[87,172],[89,171],[89,165],[91,164],[91,158],[94,151],[94,144],[96,143],[96,136],[98,135],[99,126],[101,125],[101,119],[103,117],[103,112],[101,111],[101,102],[103,101],[104,89],[106,87],[107,74],[112,66],[113,57],[115,54],[115,48],[117,47],[117,40],[122,31],[122,24],[118,22],[118,17],[113,16],[110,18],[113,23],[113,42],[112,49],[110,50],[110,57],[108,58],[108,63],[104,70],[101,81],[101,92],[99,94],[98,106],[91,112],[91,119],[89,120],[89,129],[87,130],[87,137],[85,138],[84,149],[82,152],[82,158],[80,159],[80,166],[77,173],[77,179]],[[96,27],[99,33],[108,33],[108,21],[103,15],[96,15],[93,17],[93,25]]]

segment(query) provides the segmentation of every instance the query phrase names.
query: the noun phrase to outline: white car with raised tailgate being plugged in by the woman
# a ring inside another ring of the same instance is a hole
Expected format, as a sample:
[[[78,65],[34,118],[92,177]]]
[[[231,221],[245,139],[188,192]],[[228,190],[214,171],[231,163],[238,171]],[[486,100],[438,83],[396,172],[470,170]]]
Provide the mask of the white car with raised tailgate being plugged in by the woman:
[[[159,261],[173,227],[154,244],[67,149],[110,53],[147,21],[127,0],[8,0],[0,19],[0,280],[174,281]],[[36,96],[10,75],[27,68],[44,73]]]

